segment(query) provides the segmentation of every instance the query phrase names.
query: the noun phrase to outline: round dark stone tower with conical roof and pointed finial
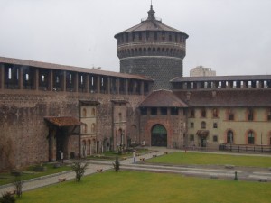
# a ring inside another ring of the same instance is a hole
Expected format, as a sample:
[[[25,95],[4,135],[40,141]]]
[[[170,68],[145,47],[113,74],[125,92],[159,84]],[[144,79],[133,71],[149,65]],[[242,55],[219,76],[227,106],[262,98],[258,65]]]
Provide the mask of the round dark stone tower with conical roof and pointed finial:
[[[153,89],[171,89],[170,80],[182,76],[188,35],[162,23],[153,5],[140,24],[117,33],[120,72],[154,79]]]

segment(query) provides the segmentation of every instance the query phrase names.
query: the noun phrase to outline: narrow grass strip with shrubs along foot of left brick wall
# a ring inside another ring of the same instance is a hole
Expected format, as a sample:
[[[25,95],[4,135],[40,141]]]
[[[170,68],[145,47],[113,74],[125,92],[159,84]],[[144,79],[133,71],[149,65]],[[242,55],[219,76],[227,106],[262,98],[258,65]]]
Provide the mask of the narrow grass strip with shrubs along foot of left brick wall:
[[[47,167],[47,171],[41,171],[41,172],[33,171],[34,166],[30,166],[29,168],[23,170],[23,174],[21,176],[22,180],[34,179],[34,178],[50,175],[53,173],[58,173],[61,171],[71,170],[70,166],[65,166],[65,165],[61,166],[60,168],[53,168],[53,164],[51,163],[43,164],[43,166]],[[13,181],[14,181],[14,176],[12,176],[10,172],[0,173],[0,185],[12,183]]]

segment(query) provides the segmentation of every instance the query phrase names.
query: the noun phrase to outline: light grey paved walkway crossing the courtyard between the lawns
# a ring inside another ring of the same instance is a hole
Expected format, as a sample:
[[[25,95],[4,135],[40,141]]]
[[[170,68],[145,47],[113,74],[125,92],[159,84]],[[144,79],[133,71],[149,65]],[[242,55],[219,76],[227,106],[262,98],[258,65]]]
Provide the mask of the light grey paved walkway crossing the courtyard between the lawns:
[[[134,171],[154,171],[154,172],[167,172],[178,173],[186,176],[199,176],[211,179],[231,179],[235,177],[235,171],[238,173],[238,180],[254,180],[254,181],[271,181],[271,171],[269,169],[259,168],[242,168],[234,166],[220,166],[220,167],[206,167],[206,166],[176,166],[176,165],[157,165],[145,163],[144,160],[153,158],[154,156],[163,155],[165,152],[174,152],[176,150],[169,150],[165,148],[154,149],[153,152],[137,156],[134,163],[133,158],[121,161],[121,170],[134,170]],[[238,154],[239,155],[239,154]],[[247,154],[248,155],[248,154]],[[67,161],[69,162],[69,161]],[[113,168],[112,161],[96,161],[90,160],[89,166],[85,175],[98,172],[100,169],[107,171]],[[74,171],[65,171],[57,174],[43,176],[33,180],[23,181],[23,191],[41,188],[47,185],[59,183],[60,179],[74,180]],[[6,191],[13,191],[14,185],[7,184],[0,186],[0,195]]]

